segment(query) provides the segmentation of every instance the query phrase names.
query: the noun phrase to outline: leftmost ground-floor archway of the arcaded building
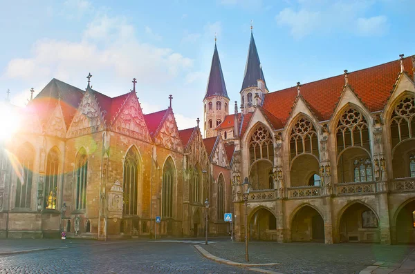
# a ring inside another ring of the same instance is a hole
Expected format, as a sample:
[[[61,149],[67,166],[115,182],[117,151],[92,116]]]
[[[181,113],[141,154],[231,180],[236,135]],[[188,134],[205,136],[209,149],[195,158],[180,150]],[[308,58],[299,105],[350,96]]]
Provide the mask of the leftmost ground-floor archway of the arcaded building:
[[[266,206],[258,206],[248,215],[250,238],[255,240],[273,240],[277,235],[277,218]]]

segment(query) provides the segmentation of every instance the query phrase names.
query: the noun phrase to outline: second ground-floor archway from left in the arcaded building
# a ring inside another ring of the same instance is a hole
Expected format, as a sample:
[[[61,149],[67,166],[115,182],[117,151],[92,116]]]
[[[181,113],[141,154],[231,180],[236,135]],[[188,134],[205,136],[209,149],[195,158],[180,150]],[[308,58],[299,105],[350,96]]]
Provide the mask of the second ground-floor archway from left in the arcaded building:
[[[312,204],[301,204],[291,213],[291,241],[324,242],[324,215]]]

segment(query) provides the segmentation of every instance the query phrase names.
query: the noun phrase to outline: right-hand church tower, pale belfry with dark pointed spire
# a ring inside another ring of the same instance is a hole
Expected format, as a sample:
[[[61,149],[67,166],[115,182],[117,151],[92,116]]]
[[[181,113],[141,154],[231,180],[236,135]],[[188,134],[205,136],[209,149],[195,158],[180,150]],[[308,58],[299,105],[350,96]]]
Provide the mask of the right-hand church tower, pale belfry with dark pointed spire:
[[[243,114],[254,111],[257,104],[262,106],[264,95],[268,93],[264,72],[262,72],[261,61],[259,61],[257,46],[252,33],[252,26],[245,74],[243,75],[242,88],[239,93],[241,94],[241,112]]]

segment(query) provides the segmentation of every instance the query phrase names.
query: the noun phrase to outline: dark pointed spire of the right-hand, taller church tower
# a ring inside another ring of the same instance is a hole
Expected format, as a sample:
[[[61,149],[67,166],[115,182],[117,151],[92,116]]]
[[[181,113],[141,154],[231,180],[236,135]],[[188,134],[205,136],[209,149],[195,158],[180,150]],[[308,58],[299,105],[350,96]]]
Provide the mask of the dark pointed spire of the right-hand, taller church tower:
[[[251,37],[248,48],[248,57],[246,59],[245,73],[243,75],[243,83],[241,90],[250,88],[252,86],[258,86],[258,80],[261,79],[265,83],[264,72],[262,72],[261,61],[259,61],[259,55],[257,46],[255,45],[254,35],[252,33],[251,26]],[[265,88],[266,87],[265,84]]]

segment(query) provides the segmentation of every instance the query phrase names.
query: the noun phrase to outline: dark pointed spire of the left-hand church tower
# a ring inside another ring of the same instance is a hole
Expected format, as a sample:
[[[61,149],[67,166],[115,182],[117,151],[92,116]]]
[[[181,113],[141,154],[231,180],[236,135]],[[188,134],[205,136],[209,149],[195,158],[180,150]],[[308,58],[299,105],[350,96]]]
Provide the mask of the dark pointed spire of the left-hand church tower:
[[[225,79],[223,78],[218,48],[216,47],[216,40],[214,43],[212,66],[210,67],[208,86],[206,87],[206,95],[204,99],[212,96],[221,96],[229,99],[228,92],[226,92]]]

